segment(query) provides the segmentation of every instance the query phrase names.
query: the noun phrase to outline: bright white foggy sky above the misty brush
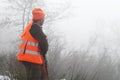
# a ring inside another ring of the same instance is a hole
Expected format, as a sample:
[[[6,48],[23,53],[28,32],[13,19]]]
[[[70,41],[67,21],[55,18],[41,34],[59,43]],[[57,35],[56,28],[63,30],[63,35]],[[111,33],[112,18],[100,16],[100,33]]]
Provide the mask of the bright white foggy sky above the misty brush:
[[[2,0],[1,0],[2,1]],[[0,1],[0,13],[4,13],[5,3]],[[54,26],[64,34],[68,43],[74,46],[87,44],[90,37],[98,35],[105,43],[115,40],[116,29],[120,31],[120,1],[119,0],[44,0],[49,8],[59,7],[64,2],[70,3],[70,8],[62,20],[56,20]],[[66,4],[67,4],[66,3]],[[52,4],[52,5],[51,5]],[[115,30],[114,30],[115,29]],[[115,41],[113,41],[115,42]]]

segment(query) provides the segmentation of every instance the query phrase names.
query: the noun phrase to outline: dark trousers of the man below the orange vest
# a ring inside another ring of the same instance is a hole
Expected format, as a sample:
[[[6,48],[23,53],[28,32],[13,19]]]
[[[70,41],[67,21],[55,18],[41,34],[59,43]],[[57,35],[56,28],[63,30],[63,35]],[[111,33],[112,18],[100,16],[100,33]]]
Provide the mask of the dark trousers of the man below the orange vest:
[[[26,68],[27,80],[43,80],[42,65],[22,62]]]

